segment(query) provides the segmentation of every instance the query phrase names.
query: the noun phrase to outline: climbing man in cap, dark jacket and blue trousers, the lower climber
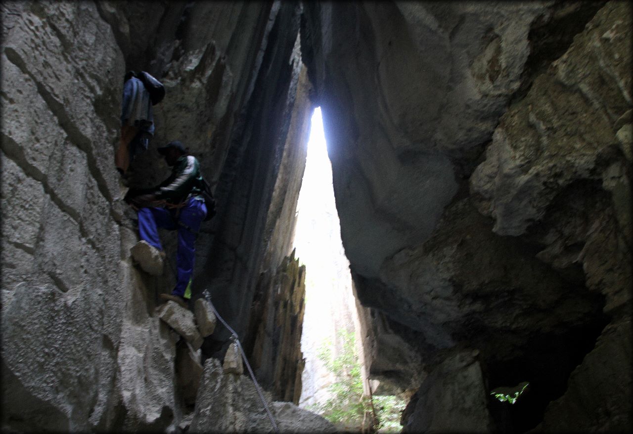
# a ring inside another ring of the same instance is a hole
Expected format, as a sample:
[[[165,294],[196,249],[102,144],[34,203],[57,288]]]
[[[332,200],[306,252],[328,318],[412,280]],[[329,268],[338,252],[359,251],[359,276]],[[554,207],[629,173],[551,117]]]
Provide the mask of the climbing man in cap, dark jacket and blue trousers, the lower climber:
[[[176,254],[177,282],[172,294],[161,299],[172,300],[187,307],[185,290],[191,280],[196,256],[196,235],[207,209],[201,195],[203,178],[197,159],[189,155],[178,140],[158,148],[172,167],[172,174],[149,194],[137,195],[130,202],[138,209],[141,241],[132,247],[132,257],[141,268],[161,275],[165,252],[158,228],[178,231]]]

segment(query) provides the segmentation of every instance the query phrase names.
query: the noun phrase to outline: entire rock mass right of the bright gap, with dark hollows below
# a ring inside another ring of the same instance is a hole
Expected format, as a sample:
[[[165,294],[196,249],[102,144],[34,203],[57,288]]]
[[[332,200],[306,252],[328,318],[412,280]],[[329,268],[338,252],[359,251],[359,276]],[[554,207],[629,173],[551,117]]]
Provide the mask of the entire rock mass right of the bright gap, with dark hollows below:
[[[630,430],[630,5],[310,3],[304,18],[377,393],[418,390],[411,431]],[[448,396],[457,349],[477,350],[481,394],[529,393],[477,407],[490,425],[451,425],[474,408]]]

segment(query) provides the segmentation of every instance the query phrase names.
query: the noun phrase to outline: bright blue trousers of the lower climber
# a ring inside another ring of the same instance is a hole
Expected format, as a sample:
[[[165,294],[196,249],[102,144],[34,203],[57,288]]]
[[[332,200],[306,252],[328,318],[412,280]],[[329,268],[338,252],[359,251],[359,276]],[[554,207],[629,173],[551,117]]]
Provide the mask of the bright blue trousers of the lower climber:
[[[158,228],[178,230],[177,282],[172,294],[182,297],[194,271],[196,235],[200,229],[200,223],[206,216],[204,201],[194,197],[189,198],[187,204],[180,208],[178,216],[175,209],[162,207],[141,208],[138,215],[141,239],[146,240],[158,250],[163,250],[160,237],[158,237]]]

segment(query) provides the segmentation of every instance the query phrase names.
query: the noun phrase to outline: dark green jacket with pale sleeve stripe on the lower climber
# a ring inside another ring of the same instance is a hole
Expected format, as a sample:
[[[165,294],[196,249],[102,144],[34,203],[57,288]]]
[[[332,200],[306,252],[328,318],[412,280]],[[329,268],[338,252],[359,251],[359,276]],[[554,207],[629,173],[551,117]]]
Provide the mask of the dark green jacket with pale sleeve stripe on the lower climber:
[[[202,192],[202,179],[200,163],[196,157],[184,155],[176,160],[176,164],[172,168],[172,175],[158,186],[158,190],[154,194],[156,194],[157,199],[179,204],[189,195],[199,196]],[[202,199],[201,196],[199,197]]]

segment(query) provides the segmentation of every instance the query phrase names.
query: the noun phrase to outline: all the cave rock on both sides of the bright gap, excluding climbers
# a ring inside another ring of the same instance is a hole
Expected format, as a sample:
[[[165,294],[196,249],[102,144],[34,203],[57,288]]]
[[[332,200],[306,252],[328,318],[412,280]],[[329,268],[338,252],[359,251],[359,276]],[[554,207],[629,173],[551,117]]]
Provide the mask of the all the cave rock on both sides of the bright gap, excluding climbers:
[[[167,95],[132,187],[166,177],[169,140],[199,158],[218,215],[192,302],[210,290],[275,399],[299,393],[302,274],[284,258],[318,104],[370,377],[413,396],[406,429],[631,430],[629,4],[1,11],[3,428],[195,431],[214,405],[230,417],[213,428],[266,423],[236,400],[248,380],[211,373],[224,326],[198,353],[158,317],[173,234],[163,276],[130,259],[113,153],[123,73],[147,70]],[[515,406],[488,395],[522,381]]]

